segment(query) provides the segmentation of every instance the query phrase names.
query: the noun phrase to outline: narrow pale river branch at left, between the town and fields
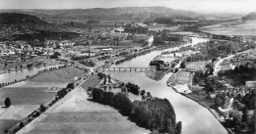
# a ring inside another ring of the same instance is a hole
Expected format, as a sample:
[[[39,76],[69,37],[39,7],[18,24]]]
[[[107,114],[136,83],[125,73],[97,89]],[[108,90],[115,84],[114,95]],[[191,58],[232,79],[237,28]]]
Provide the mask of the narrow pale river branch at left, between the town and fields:
[[[50,67],[59,67],[59,66],[48,66],[48,67],[32,67],[31,69],[23,69],[17,71],[11,71],[10,73],[0,74],[0,83],[6,83],[14,81],[15,79],[20,80],[26,78],[27,75],[32,76],[36,74],[39,70],[50,68]]]

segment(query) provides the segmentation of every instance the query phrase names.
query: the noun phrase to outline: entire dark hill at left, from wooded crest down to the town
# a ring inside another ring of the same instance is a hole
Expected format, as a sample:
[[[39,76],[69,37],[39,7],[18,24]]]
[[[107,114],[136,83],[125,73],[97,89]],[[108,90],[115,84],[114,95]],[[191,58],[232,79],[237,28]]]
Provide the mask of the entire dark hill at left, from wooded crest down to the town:
[[[71,39],[79,36],[67,27],[44,22],[38,17],[21,13],[0,14],[0,41],[38,39]]]

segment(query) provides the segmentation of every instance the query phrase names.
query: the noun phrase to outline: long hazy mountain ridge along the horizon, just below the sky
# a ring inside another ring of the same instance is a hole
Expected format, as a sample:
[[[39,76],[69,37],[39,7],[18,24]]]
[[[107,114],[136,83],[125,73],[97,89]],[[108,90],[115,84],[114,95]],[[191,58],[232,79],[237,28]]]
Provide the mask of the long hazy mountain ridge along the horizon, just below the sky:
[[[3,12],[4,10],[0,10]],[[95,9],[70,9],[70,10],[9,10],[44,18],[48,22],[56,21],[144,21],[158,17],[198,17],[200,14],[182,10],[173,10],[166,7],[119,7]]]

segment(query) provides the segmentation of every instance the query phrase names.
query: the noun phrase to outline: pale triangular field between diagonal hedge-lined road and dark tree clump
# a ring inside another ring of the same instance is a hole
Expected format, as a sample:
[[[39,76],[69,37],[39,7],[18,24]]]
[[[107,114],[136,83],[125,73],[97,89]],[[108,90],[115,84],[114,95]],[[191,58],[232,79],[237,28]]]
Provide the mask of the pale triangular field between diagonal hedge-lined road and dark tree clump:
[[[96,76],[82,87],[96,86]],[[117,110],[88,100],[87,91],[77,87],[46,112],[35,118],[18,134],[33,133],[87,133],[87,134],[146,134],[149,130],[138,127]]]

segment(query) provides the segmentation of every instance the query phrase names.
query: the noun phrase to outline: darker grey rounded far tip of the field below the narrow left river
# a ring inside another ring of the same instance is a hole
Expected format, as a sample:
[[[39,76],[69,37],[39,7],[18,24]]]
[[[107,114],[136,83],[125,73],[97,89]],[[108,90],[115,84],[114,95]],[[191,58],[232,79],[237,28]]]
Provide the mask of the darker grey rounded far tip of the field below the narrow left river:
[[[32,82],[73,82],[75,77],[84,75],[84,70],[77,67],[64,67],[49,72],[39,74],[29,81]]]

